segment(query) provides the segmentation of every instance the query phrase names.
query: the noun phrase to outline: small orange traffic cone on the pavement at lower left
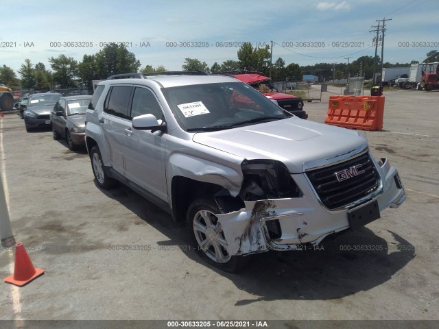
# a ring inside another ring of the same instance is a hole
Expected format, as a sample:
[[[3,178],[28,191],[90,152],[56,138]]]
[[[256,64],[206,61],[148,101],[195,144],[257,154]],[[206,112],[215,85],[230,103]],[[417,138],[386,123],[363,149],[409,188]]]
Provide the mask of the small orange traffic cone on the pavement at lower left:
[[[14,274],[5,278],[5,282],[15,284],[22,287],[27,282],[34,280],[37,276],[44,273],[44,269],[37,269],[32,264],[23,243],[17,243],[15,245],[15,268]]]

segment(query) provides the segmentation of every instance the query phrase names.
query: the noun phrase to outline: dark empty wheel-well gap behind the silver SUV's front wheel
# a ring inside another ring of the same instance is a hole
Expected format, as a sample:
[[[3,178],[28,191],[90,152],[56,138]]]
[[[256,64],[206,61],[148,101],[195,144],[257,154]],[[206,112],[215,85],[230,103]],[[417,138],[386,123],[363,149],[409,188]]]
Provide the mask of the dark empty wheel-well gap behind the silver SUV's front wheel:
[[[172,215],[174,221],[186,220],[187,209],[193,200],[199,197],[213,196],[222,190],[222,186],[212,183],[199,182],[190,178],[176,176],[171,183]]]

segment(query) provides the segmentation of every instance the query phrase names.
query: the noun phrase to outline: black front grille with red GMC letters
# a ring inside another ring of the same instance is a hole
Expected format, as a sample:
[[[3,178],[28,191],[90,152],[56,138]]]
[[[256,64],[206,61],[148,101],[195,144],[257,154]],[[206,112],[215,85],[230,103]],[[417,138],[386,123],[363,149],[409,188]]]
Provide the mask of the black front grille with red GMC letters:
[[[364,173],[349,177],[342,182],[337,180],[335,173],[354,166]],[[379,187],[379,175],[368,153],[330,167],[307,171],[307,176],[320,200],[329,209],[351,204]]]

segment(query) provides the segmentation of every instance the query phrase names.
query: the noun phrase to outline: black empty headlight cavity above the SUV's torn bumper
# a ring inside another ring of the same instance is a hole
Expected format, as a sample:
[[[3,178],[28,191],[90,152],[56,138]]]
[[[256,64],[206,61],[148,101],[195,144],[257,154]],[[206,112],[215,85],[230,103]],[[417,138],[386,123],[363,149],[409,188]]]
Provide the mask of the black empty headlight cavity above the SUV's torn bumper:
[[[302,192],[287,167],[273,160],[248,160],[241,164],[244,182],[239,196],[244,201],[301,197]]]

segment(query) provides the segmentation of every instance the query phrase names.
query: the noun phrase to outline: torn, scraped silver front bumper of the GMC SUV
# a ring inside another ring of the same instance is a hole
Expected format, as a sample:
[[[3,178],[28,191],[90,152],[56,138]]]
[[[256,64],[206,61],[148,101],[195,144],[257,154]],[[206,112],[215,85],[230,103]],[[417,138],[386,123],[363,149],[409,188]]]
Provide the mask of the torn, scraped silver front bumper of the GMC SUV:
[[[381,176],[379,191],[358,204],[337,210],[327,209],[313,190],[305,173],[292,174],[302,197],[245,201],[245,207],[217,214],[230,256],[254,254],[269,249],[301,250],[318,245],[325,237],[350,228],[348,212],[377,202],[379,210],[397,208],[405,201],[398,171],[382,158],[377,163]]]

